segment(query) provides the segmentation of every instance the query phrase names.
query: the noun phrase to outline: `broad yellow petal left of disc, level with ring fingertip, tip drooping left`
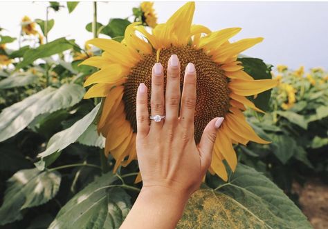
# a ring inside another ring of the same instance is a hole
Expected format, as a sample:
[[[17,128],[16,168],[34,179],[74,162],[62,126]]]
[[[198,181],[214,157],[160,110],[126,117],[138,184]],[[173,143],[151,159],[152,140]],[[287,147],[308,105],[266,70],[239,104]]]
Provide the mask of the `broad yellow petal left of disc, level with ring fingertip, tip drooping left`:
[[[117,63],[113,63],[106,68],[102,68],[98,72],[91,74],[91,76],[84,82],[84,87],[93,83],[116,83],[126,75],[127,68],[124,68]]]

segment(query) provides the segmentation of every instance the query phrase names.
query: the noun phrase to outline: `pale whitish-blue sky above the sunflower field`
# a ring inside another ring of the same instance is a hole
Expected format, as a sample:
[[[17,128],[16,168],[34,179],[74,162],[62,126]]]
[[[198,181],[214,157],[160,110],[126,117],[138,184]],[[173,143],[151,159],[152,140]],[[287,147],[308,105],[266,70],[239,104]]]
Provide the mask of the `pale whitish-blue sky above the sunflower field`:
[[[62,2],[62,5],[66,3]],[[183,2],[156,2],[158,21],[165,22]],[[46,18],[47,2],[0,2],[2,34],[18,37],[19,22],[24,15],[31,19]],[[128,17],[138,2],[99,2],[98,21],[107,24],[110,18]],[[75,39],[80,46],[92,38],[84,28],[92,21],[91,2],[82,2],[69,14],[68,10],[51,12],[55,26],[49,40],[59,37]],[[244,52],[266,63],[284,63],[291,68],[324,67],[328,69],[328,2],[197,2],[194,23],[211,30],[243,28],[230,41],[248,37],[264,37],[264,41]],[[16,48],[17,42],[8,48]]]

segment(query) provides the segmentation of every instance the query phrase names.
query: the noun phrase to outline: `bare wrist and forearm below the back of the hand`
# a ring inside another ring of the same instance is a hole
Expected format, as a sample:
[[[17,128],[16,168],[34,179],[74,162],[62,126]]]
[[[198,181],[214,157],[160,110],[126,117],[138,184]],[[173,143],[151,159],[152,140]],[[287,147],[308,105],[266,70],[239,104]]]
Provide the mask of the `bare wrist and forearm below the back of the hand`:
[[[120,228],[176,228],[187,201],[188,195],[180,192],[143,188]]]

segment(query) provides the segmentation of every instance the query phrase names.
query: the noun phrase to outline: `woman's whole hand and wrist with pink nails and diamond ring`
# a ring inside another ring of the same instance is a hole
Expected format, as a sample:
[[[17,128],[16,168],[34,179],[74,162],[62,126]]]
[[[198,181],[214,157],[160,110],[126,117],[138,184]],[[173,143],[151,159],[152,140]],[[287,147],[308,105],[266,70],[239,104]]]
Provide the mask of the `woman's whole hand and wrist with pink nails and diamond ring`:
[[[185,203],[199,188],[210,166],[217,129],[224,118],[215,118],[208,123],[197,146],[194,141],[196,78],[194,65],[188,63],[181,96],[180,63],[178,57],[172,55],[164,98],[163,67],[161,63],[154,65],[151,115],[165,115],[165,119],[152,120],[150,126],[147,88],[140,83],[136,150],[143,188],[122,228],[175,228]]]

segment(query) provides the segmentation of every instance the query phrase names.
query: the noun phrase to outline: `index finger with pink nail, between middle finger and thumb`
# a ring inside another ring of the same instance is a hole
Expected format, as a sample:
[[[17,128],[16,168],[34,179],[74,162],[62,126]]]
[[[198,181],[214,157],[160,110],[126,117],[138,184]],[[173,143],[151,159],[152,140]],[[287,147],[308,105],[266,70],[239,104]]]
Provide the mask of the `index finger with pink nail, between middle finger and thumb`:
[[[194,108],[196,106],[196,70],[193,63],[185,68],[183,91],[181,97],[180,122],[188,128],[194,124]]]

